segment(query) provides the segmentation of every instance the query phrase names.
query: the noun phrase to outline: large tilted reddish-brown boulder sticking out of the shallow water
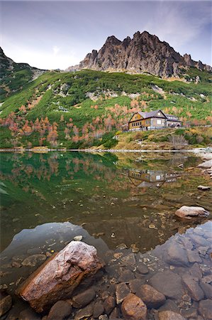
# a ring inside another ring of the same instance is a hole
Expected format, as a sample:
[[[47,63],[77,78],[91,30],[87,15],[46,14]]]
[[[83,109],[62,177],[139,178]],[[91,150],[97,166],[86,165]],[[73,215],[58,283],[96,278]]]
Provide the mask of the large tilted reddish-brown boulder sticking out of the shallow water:
[[[72,241],[21,284],[18,295],[42,312],[58,300],[71,297],[82,279],[103,266],[95,247]]]

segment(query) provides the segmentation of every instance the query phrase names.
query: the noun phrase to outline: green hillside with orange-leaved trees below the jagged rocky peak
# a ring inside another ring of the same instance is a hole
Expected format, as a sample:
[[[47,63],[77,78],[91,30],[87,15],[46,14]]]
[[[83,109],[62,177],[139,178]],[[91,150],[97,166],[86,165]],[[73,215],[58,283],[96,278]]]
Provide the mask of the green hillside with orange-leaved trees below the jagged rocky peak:
[[[209,124],[212,75],[186,73],[187,82],[91,70],[44,73],[1,103],[1,147],[113,145],[113,134],[138,110]]]

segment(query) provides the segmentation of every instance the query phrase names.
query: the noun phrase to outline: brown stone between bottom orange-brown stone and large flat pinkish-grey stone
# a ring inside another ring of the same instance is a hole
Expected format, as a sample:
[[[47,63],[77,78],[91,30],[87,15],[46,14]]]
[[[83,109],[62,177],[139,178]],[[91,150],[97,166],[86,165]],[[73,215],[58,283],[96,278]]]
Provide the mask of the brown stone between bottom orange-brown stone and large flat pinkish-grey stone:
[[[148,308],[159,308],[166,301],[166,297],[161,292],[158,292],[155,288],[149,284],[143,284],[140,290],[136,292],[138,297],[143,300]]]

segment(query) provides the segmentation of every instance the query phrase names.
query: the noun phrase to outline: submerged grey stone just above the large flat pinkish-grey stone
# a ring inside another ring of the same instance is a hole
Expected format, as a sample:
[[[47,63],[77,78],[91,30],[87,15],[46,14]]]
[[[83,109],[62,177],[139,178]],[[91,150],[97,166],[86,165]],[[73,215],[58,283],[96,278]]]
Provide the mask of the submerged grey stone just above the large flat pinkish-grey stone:
[[[189,265],[187,252],[177,242],[171,242],[165,252],[165,260],[172,265]]]

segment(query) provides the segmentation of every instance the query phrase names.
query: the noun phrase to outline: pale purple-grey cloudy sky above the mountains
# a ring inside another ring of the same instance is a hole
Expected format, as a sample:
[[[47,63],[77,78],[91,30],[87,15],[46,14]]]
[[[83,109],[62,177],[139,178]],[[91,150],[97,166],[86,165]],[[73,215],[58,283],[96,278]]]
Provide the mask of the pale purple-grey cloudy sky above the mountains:
[[[211,65],[212,1],[1,1],[1,48],[17,63],[64,70],[108,36],[148,31]]]

